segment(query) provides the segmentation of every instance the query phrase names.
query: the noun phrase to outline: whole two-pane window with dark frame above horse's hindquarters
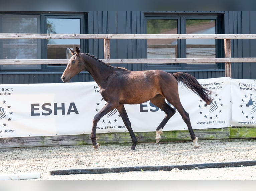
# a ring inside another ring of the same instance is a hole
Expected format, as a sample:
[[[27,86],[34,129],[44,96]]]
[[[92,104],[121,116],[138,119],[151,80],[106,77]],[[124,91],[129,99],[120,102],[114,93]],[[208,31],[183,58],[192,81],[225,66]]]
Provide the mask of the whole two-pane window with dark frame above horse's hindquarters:
[[[157,16],[146,15],[147,34],[221,34],[222,20],[218,15]],[[147,58],[217,58],[223,57],[222,40],[216,39],[148,39]],[[148,64],[147,69],[216,70],[222,63]]]

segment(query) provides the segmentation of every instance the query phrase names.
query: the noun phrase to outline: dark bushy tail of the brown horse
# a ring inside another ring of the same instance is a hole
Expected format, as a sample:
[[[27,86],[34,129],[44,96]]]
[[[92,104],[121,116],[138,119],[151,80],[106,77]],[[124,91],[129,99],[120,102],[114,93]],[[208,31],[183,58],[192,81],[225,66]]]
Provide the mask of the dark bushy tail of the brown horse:
[[[177,72],[172,75],[178,82],[182,82],[188,89],[196,93],[207,104],[211,103],[212,92],[210,90],[207,90],[206,88],[203,88],[194,76],[184,72]]]

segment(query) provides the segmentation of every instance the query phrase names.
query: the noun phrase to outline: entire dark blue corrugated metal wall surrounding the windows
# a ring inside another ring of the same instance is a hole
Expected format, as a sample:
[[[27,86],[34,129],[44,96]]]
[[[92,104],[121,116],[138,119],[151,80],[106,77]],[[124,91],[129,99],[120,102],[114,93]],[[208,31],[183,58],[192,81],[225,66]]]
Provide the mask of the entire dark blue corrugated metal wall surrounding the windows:
[[[145,13],[223,14],[225,34],[256,34],[256,11],[89,11],[88,33],[144,34]],[[256,40],[232,40],[232,57],[256,57]],[[89,39],[86,52],[103,58],[103,40]],[[111,40],[111,58],[146,58],[145,40]],[[129,70],[145,70],[144,64],[120,64]],[[224,77],[223,71],[189,72],[197,79]],[[0,84],[61,83],[62,72],[1,73]],[[232,78],[256,79],[256,63],[233,63]],[[82,72],[72,82],[93,81]]]

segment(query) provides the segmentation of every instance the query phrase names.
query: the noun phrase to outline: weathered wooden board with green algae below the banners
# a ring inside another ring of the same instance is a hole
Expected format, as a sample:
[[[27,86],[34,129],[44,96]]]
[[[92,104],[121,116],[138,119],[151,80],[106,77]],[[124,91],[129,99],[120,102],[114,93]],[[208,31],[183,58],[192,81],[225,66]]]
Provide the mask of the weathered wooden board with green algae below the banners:
[[[256,127],[195,129],[199,140],[256,138]],[[99,144],[131,143],[129,133],[96,133]],[[139,143],[155,142],[155,132],[135,132]],[[161,141],[190,141],[188,130],[163,131]],[[0,138],[1,148],[69,146],[92,144],[90,134]]]

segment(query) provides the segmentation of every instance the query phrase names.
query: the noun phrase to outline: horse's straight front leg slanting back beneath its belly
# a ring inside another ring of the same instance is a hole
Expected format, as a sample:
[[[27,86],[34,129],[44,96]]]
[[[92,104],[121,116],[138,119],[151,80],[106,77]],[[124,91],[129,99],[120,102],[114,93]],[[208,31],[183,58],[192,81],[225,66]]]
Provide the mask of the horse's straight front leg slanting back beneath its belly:
[[[128,129],[129,133],[130,133],[130,136],[132,138],[132,146],[131,146],[131,149],[132,150],[135,150],[135,147],[136,147],[136,144],[138,142],[133,130],[132,130],[132,127],[131,127],[131,122],[128,118],[128,115],[126,113],[126,110],[124,108],[124,105],[120,105],[119,107],[117,107],[117,110],[118,112],[120,113],[123,121],[124,121],[124,124],[126,126],[126,128]]]

